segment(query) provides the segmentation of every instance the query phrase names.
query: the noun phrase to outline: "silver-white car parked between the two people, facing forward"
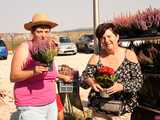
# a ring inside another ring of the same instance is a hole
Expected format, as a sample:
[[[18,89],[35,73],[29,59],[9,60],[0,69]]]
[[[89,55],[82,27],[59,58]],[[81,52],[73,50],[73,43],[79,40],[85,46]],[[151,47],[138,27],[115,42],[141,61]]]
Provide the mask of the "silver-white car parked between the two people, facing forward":
[[[69,37],[59,37],[59,50],[58,55],[63,54],[73,54],[75,55],[77,53],[77,47],[76,44],[71,41]]]

